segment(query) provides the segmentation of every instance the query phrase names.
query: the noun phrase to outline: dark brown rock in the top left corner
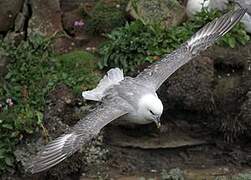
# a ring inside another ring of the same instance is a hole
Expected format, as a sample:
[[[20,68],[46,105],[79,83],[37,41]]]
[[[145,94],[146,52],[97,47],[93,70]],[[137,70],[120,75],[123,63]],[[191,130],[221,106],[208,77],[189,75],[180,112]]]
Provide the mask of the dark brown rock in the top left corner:
[[[22,5],[23,0],[0,1],[0,33],[6,33],[14,27],[15,18]]]

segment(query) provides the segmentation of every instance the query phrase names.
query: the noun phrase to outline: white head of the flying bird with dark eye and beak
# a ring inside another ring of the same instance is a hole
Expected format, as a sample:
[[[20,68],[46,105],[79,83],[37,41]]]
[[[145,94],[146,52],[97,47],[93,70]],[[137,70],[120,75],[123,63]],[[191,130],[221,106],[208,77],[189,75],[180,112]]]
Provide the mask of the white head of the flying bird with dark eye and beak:
[[[163,104],[157,94],[146,94],[139,100],[138,113],[145,120],[155,122],[160,127],[160,116],[163,112]]]

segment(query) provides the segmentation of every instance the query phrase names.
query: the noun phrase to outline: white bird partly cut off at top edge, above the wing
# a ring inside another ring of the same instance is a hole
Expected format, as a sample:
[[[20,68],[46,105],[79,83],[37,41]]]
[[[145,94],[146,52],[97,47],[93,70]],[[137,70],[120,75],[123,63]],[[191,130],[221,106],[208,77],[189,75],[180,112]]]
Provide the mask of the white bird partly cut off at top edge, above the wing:
[[[188,17],[193,17],[200,12],[202,8],[218,9],[223,11],[227,8],[229,0],[188,0],[186,5],[186,13]]]

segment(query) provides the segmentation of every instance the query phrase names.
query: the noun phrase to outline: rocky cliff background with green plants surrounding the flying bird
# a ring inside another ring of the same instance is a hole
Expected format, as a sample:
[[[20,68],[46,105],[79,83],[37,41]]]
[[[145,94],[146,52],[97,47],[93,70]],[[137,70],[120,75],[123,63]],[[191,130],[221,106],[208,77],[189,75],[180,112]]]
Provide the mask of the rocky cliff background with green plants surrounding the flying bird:
[[[27,162],[96,104],[107,70],[135,76],[250,0],[0,0],[0,179],[250,180],[251,14],[158,90],[162,128],[108,125],[47,172]]]

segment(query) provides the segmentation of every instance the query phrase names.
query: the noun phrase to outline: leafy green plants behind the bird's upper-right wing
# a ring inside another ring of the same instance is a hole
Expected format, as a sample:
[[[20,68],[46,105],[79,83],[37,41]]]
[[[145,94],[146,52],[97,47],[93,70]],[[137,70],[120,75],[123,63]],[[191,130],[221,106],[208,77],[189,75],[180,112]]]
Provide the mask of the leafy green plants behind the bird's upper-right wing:
[[[209,12],[204,9],[194,19],[170,29],[146,25],[139,20],[126,24],[125,27],[107,35],[108,41],[99,50],[103,57],[99,67],[101,69],[120,67],[125,73],[130,74],[140,64],[153,62],[170,53],[203,25],[220,15],[219,11]],[[243,25],[239,23],[221,39],[219,44],[233,48],[238,44],[244,45],[249,38]]]

